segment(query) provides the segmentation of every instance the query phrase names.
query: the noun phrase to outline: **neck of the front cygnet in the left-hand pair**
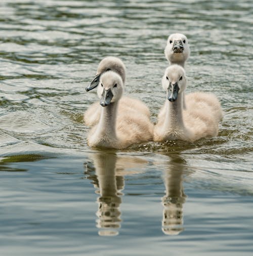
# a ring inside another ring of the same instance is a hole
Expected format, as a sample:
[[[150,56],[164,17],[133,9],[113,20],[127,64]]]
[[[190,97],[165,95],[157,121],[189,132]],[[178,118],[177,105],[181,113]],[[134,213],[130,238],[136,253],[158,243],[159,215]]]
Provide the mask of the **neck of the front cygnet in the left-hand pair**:
[[[98,123],[98,133],[110,139],[116,139],[116,116],[118,102],[110,103],[106,107],[101,107],[101,115]]]

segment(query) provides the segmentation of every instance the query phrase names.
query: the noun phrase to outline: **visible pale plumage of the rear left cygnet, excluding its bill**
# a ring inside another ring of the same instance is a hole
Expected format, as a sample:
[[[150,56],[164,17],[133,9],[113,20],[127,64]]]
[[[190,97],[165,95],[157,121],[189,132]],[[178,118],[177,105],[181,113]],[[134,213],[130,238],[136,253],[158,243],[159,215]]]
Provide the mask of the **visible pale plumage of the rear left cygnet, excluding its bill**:
[[[103,74],[108,70],[117,73],[124,84],[125,82],[125,66],[121,59],[117,57],[106,57],[102,59],[99,63],[97,75]],[[135,111],[140,112],[150,118],[150,112],[148,107],[143,104],[140,100],[130,98],[130,97],[122,97],[119,100],[119,111]],[[85,112],[83,116],[83,120],[86,125],[93,126],[98,123],[101,114],[101,108],[99,102],[95,102],[90,108]]]

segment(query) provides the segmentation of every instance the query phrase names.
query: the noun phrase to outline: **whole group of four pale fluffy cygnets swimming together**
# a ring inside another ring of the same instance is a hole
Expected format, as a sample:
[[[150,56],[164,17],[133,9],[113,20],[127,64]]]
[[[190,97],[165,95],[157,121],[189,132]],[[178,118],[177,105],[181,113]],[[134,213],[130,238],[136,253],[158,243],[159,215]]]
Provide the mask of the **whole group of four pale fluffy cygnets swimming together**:
[[[193,142],[218,135],[223,114],[216,96],[204,92],[184,94],[184,65],[190,55],[186,36],[169,36],[164,54],[170,66],[162,77],[166,100],[156,125],[150,121],[150,111],[143,102],[123,95],[123,62],[117,57],[106,57],[99,63],[95,78],[86,88],[89,91],[97,87],[100,99],[84,115],[85,123],[93,126],[88,135],[89,146],[122,149],[152,140]]]

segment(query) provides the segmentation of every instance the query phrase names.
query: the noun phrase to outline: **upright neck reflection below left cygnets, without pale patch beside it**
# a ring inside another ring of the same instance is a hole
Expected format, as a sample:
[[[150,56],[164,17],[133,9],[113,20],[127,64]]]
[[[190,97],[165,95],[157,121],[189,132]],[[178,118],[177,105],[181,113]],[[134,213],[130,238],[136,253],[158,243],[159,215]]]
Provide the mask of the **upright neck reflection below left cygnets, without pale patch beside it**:
[[[121,222],[119,207],[122,194],[120,191],[124,187],[123,176],[116,176],[115,173],[117,155],[114,152],[101,151],[92,154],[91,158],[96,175],[90,175],[90,178],[98,188],[96,193],[100,194],[97,198],[98,211],[96,212],[98,233],[101,236],[116,236]]]

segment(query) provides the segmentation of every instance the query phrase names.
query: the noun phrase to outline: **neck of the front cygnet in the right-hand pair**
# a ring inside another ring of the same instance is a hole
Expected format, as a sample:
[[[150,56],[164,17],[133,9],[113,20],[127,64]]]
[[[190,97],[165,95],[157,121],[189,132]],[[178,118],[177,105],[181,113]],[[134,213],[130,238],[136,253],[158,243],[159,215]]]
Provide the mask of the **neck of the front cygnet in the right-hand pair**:
[[[178,99],[174,102],[166,101],[166,117],[164,126],[166,130],[184,129],[183,121],[183,93],[178,94]]]

